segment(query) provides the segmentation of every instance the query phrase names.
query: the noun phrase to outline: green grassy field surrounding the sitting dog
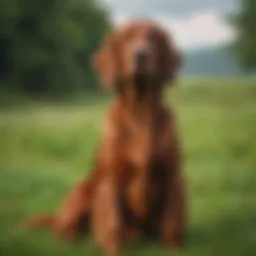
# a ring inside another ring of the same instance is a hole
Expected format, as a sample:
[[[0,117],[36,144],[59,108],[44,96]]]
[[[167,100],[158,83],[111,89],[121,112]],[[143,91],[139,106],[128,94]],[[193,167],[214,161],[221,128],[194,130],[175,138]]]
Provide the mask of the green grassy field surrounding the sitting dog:
[[[183,82],[167,93],[189,181],[189,236],[180,255],[256,255],[256,82]],[[100,255],[89,237],[64,244],[20,220],[54,211],[90,170],[106,98],[0,110],[0,255]],[[138,243],[125,255],[172,255]]]

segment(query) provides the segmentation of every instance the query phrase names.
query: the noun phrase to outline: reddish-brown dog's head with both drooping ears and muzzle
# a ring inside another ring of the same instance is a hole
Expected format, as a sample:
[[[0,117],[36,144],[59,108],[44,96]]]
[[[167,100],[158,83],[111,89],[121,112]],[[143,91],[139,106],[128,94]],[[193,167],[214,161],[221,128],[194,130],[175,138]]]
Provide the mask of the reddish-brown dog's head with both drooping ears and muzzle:
[[[167,33],[150,21],[134,21],[110,33],[93,56],[103,85],[147,77],[162,84],[175,78],[181,57]]]

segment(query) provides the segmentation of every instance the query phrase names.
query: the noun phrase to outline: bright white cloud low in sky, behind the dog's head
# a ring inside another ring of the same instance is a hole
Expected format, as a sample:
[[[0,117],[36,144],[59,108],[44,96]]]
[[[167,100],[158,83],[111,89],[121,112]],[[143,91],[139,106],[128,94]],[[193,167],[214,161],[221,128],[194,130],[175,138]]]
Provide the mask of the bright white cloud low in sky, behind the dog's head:
[[[117,25],[129,21],[129,17],[115,15]],[[235,31],[220,14],[204,11],[183,18],[155,18],[173,35],[177,44],[183,49],[219,45],[234,40]]]

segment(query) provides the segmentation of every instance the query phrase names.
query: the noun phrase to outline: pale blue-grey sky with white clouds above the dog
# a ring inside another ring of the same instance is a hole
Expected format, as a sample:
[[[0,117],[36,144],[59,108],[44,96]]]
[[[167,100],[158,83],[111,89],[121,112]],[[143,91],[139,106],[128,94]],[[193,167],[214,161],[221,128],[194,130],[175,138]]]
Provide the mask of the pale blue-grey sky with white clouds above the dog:
[[[133,17],[153,18],[173,35],[184,50],[232,42],[235,29],[228,14],[240,8],[240,0],[104,0],[116,25]]]

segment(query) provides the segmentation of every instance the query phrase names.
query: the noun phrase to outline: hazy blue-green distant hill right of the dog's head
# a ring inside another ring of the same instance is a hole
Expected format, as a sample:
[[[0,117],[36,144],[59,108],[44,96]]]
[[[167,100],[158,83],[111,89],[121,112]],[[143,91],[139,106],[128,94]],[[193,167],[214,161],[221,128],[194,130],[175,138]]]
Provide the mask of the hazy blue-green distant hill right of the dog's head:
[[[182,73],[195,76],[237,76],[242,72],[226,47],[211,47],[184,53]]]

